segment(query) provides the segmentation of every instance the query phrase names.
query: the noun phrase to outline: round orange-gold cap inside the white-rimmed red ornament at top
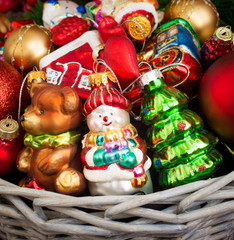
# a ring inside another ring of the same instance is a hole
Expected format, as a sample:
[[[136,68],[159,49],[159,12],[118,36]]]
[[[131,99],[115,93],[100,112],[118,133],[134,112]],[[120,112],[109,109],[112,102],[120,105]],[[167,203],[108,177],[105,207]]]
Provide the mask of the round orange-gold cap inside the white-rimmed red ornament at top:
[[[127,29],[129,35],[135,40],[144,40],[151,32],[151,24],[147,17],[143,15],[133,15],[128,18]]]

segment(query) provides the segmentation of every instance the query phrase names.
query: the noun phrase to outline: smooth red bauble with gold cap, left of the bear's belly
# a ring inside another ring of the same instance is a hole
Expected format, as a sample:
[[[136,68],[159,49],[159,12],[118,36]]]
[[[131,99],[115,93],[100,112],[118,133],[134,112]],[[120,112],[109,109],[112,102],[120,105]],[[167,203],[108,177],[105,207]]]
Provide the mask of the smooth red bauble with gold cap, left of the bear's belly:
[[[6,118],[0,121],[0,176],[7,176],[15,166],[16,157],[23,147],[19,124]]]

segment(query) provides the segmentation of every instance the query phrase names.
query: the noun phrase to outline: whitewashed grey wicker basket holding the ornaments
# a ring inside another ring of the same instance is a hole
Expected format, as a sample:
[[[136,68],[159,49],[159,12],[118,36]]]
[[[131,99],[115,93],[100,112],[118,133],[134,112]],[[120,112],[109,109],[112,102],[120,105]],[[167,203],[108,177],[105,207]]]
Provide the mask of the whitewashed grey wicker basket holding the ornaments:
[[[2,239],[234,239],[234,171],[149,195],[72,197],[0,179]]]

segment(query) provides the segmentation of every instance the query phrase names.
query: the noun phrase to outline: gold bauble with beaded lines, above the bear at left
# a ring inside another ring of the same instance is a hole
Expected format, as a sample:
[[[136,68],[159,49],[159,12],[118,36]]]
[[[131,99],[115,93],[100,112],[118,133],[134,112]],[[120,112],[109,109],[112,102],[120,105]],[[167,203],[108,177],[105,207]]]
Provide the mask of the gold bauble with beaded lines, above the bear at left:
[[[52,33],[36,24],[25,25],[14,30],[4,44],[4,60],[22,75],[39,68],[42,57],[53,51]]]

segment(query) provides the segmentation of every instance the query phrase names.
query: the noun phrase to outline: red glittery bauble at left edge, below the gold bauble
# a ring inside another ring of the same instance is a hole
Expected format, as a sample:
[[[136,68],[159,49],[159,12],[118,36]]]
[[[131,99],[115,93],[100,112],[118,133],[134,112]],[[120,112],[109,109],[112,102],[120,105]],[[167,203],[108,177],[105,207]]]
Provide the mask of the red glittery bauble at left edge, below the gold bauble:
[[[11,115],[17,119],[19,94],[23,78],[9,63],[0,60],[0,120]],[[22,92],[21,109],[30,103],[26,87]]]

